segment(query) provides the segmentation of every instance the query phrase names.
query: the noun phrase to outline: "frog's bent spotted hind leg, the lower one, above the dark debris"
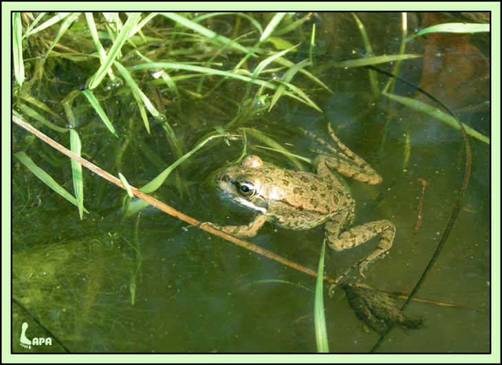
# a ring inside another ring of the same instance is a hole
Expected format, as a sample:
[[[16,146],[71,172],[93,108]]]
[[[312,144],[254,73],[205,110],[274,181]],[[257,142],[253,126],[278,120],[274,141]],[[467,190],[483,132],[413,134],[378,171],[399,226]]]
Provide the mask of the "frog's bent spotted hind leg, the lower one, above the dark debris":
[[[340,233],[341,224],[345,219],[346,217],[334,217],[334,219],[326,223],[325,236],[333,250],[342,251],[356,247],[380,234],[380,242],[375,250],[354,265],[354,267],[359,267],[359,273],[364,277],[363,270],[376,258],[383,256],[391,249],[394,241],[395,225],[387,220],[373,221],[356,225]]]

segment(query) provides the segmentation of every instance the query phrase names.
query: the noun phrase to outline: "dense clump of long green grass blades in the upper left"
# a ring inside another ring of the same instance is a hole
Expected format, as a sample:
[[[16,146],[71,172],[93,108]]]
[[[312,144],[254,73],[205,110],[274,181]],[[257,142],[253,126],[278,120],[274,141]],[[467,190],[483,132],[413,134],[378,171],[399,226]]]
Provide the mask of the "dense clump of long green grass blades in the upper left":
[[[303,84],[294,85],[296,74],[311,87],[327,87],[307,70],[308,59],[296,62],[300,43],[287,41],[303,34],[309,16],[256,15],[14,12],[13,110],[37,128],[61,133],[60,139],[69,131],[70,148],[78,155],[97,140],[118,137],[122,147],[113,166],[119,171],[120,158],[143,132],[152,133],[152,122],[155,134],[157,126],[164,130],[176,159],[186,155],[173,125],[182,122],[189,100],[217,108],[232,124],[258,113],[241,107],[254,98],[268,111],[282,97],[320,111]],[[238,113],[230,117],[232,110]],[[143,153],[151,162],[162,159],[146,148]],[[82,217],[79,164],[72,165],[72,179]]]

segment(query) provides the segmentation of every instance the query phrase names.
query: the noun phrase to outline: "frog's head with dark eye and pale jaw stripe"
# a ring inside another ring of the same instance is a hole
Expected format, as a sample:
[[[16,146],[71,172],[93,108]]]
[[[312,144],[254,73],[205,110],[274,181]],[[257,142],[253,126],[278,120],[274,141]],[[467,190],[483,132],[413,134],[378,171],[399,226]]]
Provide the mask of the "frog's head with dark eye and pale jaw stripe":
[[[216,186],[226,197],[245,208],[265,214],[267,201],[263,197],[260,168],[263,161],[258,156],[248,156],[240,164],[220,171]]]

